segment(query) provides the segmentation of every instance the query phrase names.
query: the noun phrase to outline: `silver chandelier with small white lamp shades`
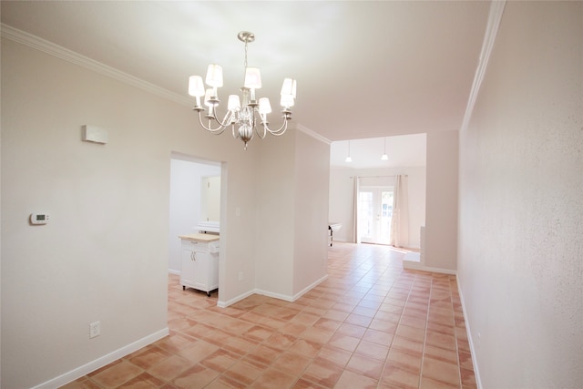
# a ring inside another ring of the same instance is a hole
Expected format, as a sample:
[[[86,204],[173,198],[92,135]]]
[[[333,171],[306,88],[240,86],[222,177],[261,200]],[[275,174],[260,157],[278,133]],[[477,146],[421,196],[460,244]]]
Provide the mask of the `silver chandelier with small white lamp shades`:
[[[261,97],[257,100],[255,96],[256,89],[261,88],[261,74],[258,67],[247,66],[247,45],[255,40],[255,35],[248,31],[241,31],[237,37],[245,44],[245,77],[243,87],[240,88],[241,97],[230,95],[227,103],[227,113],[221,117],[218,114],[219,96],[217,88],[222,87],[222,67],[217,64],[209,65],[205,82],[208,88],[205,89],[202,83],[202,77],[191,76],[189,78],[189,95],[196,97],[196,106],[192,109],[199,113],[200,126],[213,134],[222,134],[223,131],[231,127],[233,138],[240,138],[247,143],[257,133],[260,138],[265,138],[269,132],[271,135],[280,136],[288,128],[288,120],[292,119],[292,107],[296,97],[296,80],[284,78],[281,87],[281,116],[283,123],[280,128],[272,129],[269,127],[267,115],[271,113],[270,100],[267,97]],[[207,107],[204,115],[208,119],[208,125],[202,121],[202,112],[204,107],[200,106],[200,97],[204,97],[203,103]],[[259,117],[259,118],[257,118]],[[215,123],[216,121],[216,123]]]

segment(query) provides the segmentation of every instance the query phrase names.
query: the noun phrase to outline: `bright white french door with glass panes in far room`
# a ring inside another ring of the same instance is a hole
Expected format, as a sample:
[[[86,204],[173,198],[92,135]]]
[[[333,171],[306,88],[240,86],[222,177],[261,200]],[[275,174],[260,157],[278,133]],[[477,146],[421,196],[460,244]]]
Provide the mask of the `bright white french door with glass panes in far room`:
[[[363,243],[390,243],[393,195],[393,187],[360,188],[358,233]]]

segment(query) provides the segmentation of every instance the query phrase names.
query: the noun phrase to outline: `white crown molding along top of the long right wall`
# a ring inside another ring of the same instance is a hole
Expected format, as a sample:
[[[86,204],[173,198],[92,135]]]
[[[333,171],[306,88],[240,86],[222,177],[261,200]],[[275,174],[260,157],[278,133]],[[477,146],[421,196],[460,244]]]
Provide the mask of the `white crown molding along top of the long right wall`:
[[[506,0],[494,0],[490,4],[490,13],[486,24],[486,36],[484,36],[482,51],[480,52],[480,59],[477,64],[476,75],[474,76],[474,83],[472,84],[470,96],[467,100],[467,106],[465,107],[464,120],[462,121],[461,127],[462,131],[465,131],[469,125],[470,118],[472,117],[477,93],[480,90],[482,80],[486,75],[486,67],[488,65],[488,60],[490,59],[490,54],[492,53],[492,48],[494,47],[494,42],[496,41],[496,34],[498,33],[498,27],[502,20],[502,14],[504,14],[505,6]]]

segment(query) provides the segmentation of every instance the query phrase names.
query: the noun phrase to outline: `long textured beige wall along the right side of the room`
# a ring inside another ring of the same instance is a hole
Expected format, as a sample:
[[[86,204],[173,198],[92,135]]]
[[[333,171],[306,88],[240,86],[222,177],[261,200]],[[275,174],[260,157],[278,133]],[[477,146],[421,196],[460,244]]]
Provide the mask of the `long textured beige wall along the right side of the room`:
[[[458,274],[484,388],[583,383],[583,3],[508,2],[460,134]]]

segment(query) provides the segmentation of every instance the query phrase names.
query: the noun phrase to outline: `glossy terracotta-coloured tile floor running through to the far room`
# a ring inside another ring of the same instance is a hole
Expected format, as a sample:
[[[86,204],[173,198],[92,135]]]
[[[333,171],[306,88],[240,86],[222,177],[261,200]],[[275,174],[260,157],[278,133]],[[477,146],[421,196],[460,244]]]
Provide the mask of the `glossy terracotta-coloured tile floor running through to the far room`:
[[[387,246],[334,243],[329,278],[296,302],[169,276],[168,337],[71,388],[476,388],[455,276],[404,271]]]

